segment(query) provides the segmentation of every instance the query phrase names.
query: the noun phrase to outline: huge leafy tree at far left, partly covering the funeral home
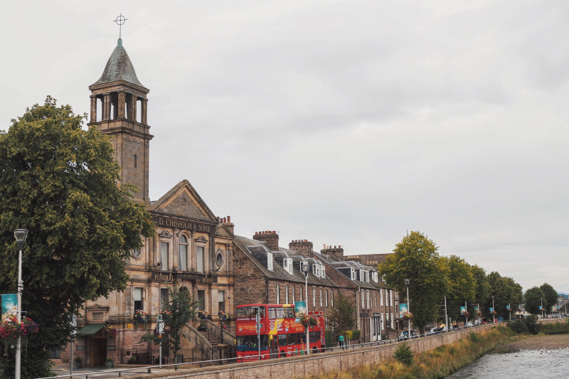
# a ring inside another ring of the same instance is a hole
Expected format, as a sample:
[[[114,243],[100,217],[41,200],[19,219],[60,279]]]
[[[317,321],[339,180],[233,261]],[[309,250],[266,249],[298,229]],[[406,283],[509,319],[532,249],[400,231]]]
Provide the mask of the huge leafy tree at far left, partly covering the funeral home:
[[[23,378],[50,375],[50,350],[65,346],[69,316],[86,300],[127,284],[125,258],[154,235],[134,188],[117,186],[108,139],[86,116],[47,97],[0,132],[0,289],[16,292],[18,250],[12,231],[29,230],[23,251],[23,311],[40,324],[22,356]],[[0,356],[13,375],[11,352]]]

